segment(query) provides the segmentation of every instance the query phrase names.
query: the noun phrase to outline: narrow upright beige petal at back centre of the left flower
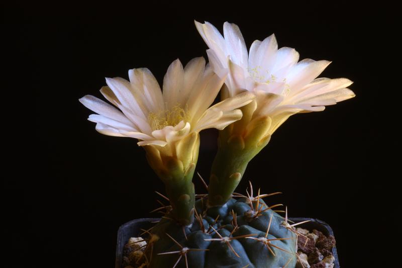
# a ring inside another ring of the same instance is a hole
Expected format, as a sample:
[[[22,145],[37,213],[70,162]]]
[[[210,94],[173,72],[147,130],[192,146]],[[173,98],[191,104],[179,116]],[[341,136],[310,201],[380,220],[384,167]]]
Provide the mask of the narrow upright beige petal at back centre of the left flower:
[[[163,100],[168,110],[179,104],[178,99],[183,91],[183,83],[183,65],[176,59],[170,64],[163,78]]]

